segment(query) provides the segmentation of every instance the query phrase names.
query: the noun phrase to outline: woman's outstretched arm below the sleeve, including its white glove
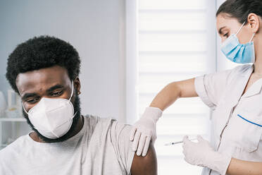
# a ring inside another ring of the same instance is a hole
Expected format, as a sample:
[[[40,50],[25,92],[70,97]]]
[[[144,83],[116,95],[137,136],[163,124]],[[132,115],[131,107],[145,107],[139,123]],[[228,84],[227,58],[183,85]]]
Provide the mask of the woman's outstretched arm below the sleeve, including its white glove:
[[[130,140],[133,141],[132,149],[137,150],[137,155],[145,156],[150,141],[156,140],[156,122],[162,116],[163,110],[173,104],[179,97],[197,97],[194,88],[194,78],[182,80],[166,85],[156,95],[150,107],[147,107],[142,117],[132,127]]]

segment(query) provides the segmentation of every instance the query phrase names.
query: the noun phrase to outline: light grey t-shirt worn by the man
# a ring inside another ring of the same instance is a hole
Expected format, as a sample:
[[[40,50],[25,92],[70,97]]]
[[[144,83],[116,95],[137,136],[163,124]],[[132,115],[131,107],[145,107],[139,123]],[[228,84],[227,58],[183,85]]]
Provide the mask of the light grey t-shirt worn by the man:
[[[37,143],[24,135],[0,151],[0,174],[131,174],[130,128],[85,116],[81,131],[61,143]]]

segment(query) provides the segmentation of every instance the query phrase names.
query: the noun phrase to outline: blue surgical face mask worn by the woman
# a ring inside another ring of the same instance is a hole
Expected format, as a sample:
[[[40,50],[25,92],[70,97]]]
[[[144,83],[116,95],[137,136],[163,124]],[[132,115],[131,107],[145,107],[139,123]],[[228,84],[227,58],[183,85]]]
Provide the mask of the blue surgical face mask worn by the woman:
[[[227,59],[237,64],[250,64],[255,62],[254,42],[251,42],[255,33],[247,44],[240,44],[237,38],[237,34],[243,28],[244,23],[236,34],[230,35],[230,37],[223,42],[221,47],[221,51],[225,54]]]

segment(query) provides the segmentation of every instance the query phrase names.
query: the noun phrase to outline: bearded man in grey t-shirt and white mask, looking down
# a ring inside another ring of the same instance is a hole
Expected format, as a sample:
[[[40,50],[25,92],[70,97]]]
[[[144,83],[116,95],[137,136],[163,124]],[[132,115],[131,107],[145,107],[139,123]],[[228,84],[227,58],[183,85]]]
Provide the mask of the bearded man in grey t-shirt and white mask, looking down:
[[[146,157],[135,155],[130,126],[81,115],[73,46],[34,37],[15,48],[6,70],[33,131],[0,151],[0,174],[157,174],[154,147]]]

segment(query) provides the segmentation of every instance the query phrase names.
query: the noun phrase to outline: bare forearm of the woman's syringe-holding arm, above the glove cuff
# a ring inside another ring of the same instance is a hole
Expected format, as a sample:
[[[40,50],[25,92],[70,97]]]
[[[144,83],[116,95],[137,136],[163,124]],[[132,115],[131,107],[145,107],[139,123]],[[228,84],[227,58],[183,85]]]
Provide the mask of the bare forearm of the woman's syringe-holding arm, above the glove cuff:
[[[227,168],[228,175],[261,175],[262,162],[248,162],[232,158]]]

